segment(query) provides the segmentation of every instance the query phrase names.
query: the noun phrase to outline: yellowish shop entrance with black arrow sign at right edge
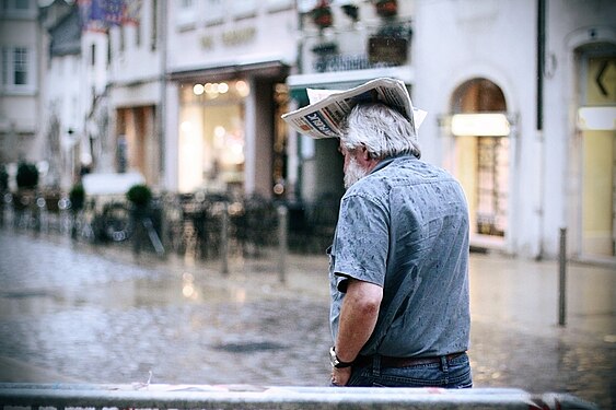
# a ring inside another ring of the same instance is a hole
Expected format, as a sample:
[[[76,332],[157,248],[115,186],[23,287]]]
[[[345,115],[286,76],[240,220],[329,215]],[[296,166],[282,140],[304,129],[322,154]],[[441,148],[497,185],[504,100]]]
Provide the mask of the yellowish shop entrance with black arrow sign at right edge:
[[[578,254],[616,257],[616,54],[615,48],[578,50],[580,164]]]

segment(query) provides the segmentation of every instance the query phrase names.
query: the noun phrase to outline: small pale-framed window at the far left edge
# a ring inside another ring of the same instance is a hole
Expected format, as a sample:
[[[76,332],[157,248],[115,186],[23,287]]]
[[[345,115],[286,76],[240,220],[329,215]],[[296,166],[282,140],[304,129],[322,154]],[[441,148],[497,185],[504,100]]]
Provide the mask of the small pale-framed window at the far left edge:
[[[34,85],[32,54],[26,47],[2,47],[2,90],[27,91]]]

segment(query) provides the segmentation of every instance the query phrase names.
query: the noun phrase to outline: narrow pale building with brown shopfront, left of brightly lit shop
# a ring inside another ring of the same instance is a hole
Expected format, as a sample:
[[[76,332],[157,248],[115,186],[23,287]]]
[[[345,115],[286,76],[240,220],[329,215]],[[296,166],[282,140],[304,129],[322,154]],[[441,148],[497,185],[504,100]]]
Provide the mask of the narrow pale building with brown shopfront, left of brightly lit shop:
[[[127,2],[128,20],[109,28],[109,127],[103,167],[139,172],[154,187],[162,186],[166,168],[161,151],[166,3]]]

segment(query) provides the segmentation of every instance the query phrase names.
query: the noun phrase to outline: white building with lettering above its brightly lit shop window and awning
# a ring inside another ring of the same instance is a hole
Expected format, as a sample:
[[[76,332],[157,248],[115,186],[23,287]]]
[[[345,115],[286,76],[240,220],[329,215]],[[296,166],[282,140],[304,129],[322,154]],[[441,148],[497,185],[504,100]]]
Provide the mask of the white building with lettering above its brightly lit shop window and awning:
[[[165,186],[282,194],[294,1],[166,4]]]

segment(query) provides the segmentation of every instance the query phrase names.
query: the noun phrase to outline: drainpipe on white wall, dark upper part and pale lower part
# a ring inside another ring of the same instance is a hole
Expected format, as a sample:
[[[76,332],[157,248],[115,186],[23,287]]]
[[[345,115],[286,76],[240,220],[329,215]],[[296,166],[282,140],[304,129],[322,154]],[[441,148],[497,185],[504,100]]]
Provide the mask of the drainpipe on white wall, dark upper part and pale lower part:
[[[544,71],[545,71],[545,44],[546,44],[546,0],[537,0],[537,141],[539,144],[539,248],[537,260],[544,258],[544,224],[545,224],[545,139],[544,139]]]

